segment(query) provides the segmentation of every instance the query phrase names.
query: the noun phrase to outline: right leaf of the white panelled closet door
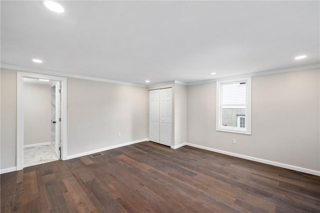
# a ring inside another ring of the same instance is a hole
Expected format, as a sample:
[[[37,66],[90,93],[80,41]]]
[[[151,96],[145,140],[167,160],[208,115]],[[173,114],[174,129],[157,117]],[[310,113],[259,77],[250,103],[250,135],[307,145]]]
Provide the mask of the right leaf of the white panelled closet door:
[[[171,88],[159,89],[160,92],[160,138],[159,143],[171,146]]]

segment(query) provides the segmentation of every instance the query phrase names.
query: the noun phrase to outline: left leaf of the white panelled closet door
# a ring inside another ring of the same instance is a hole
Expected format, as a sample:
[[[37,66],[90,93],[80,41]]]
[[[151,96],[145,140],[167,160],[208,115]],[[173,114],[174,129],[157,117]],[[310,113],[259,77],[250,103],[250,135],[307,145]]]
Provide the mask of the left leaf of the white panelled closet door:
[[[149,91],[149,140],[159,142],[159,90]]]

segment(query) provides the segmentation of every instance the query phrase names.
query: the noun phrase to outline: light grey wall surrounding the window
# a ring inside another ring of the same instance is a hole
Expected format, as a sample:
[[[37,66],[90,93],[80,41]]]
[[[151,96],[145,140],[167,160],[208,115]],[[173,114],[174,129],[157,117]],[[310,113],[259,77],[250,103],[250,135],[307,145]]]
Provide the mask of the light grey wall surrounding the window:
[[[189,85],[187,142],[320,171],[319,91],[318,68],[252,77],[244,135],[215,130],[215,82]]]

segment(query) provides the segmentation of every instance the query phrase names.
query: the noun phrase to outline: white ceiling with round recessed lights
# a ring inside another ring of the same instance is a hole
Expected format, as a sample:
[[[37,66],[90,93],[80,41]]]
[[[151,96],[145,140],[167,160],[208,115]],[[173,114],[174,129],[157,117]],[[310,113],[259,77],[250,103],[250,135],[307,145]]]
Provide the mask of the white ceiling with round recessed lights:
[[[319,1],[59,3],[1,0],[2,65],[152,84],[320,62]]]

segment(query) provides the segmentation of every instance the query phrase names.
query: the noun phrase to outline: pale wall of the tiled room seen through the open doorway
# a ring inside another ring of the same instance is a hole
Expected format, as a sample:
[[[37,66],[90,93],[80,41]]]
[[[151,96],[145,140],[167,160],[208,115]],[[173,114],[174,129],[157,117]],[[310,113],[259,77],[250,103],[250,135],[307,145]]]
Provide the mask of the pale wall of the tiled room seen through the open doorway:
[[[23,83],[23,145],[51,140],[50,85]]]

